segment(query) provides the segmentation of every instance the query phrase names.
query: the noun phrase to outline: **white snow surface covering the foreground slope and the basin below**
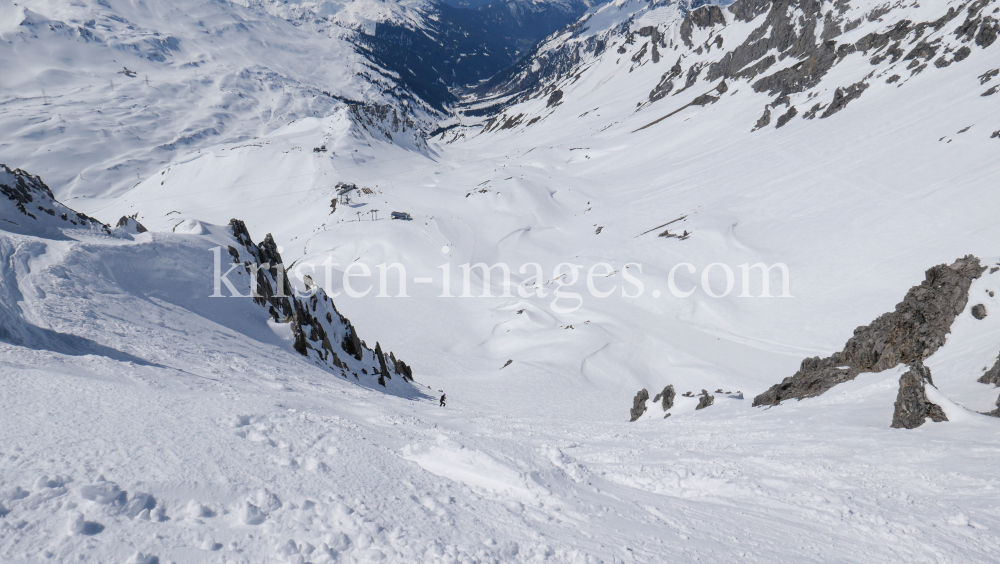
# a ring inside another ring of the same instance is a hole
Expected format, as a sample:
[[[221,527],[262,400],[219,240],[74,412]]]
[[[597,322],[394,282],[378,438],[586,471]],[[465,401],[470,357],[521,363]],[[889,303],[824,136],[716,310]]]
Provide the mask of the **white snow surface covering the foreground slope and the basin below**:
[[[621,5],[625,18],[638,10]],[[20,9],[0,4],[3,38]],[[290,42],[300,33],[273,25]],[[1000,110],[977,77],[1000,67],[998,49],[903,87],[873,80],[829,119],[754,132],[763,102],[745,82],[640,129],[682,105],[637,109],[670,56],[634,72],[605,57],[562,85],[554,109],[541,97],[506,110],[544,114],[538,123],[484,132],[465,122],[426,147],[285,94],[302,111],[253,127],[225,117],[247,138],[172,149],[127,185],[101,172],[87,179],[117,183],[85,187],[86,155],[74,149],[82,156],[66,166],[76,168],[60,169],[36,154],[55,129],[23,125],[19,139],[35,144],[17,154],[53,169],[57,198],[112,224],[138,214],[150,232],[0,239],[0,560],[1000,559],[1000,420],[978,413],[998,390],[976,382],[1000,353],[1000,273],[973,284],[927,359],[928,397],[948,422],[889,428],[905,367],[750,405],[890,311],[927,268],[966,254],[997,265]],[[867,64],[835,67],[824,95]],[[66,92],[104,88],[72,80]],[[201,111],[185,108],[191,90],[178,84],[157,112]],[[74,100],[83,112],[96,97]],[[20,119],[10,108],[28,103],[10,102],[0,120]],[[66,131],[89,139],[80,128],[104,122],[88,119]],[[109,143],[129,145],[127,127]],[[95,163],[121,158],[88,150]],[[368,191],[334,210],[339,182]],[[251,300],[209,298],[210,249],[225,248],[233,217],[255,241],[273,234],[286,266],[412,365],[419,393],[359,386],[296,354],[287,324]],[[397,297],[397,270],[380,297],[378,266],[389,263],[405,267],[408,297]],[[510,295],[497,269],[492,297],[479,271],[474,295],[460,297],[466,263],[507,264]],[[540,278],[519,271],[528,263]],[[561,263],[582,265],[575,284]],[[778,270],[774,297],[759,297],[759,277],[744,288],[739,265],[755,263],[784,264],[790,297],[779,297]],[[349,265],[371,276],[347,288]],[[592,267],[607,297],[588,290]],[[726,291],[725,268],[733,288],[713,297]],[[26,336],[14,342],[9,327]],[[636,391],[668,384],[678,394],[669,418],[651,405],[627,422]],[[702,389],[731,393],[695,410],[681,394]]]

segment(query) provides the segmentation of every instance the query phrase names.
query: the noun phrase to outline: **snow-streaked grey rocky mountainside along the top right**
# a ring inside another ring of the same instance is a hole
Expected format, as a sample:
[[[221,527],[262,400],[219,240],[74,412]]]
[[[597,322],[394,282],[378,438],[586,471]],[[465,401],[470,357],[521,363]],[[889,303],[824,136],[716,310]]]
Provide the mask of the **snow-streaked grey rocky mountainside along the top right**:
[[[651,3],[649,10],[657,6]],[[474,91],[481,100],[496,102],[489,107],[476,103],[465,113],[492,115],[486,124],[488,131],[500,129],[498,124],[521,127],[538,116],[529,113],[523,121],[514,119],[518,112],[512,106],[532,98],[544,99],[554,92],[570,95],[568,86],[580,80],[601,57],[611,57],[615,64],[621,63],[631,72],[641,65],[661,62],[673,50],[677,53],[671,54],[670,60],[676,62],[663,74],[657,73],[655,86],[651,85],[645,99],[637,100],[637,111],[688,88],[697,88],[700,81],[726,80],[734,90],[735,85],[748,83],[754,92],[771,98],[761,100],[766,113],[753,129],[781,128],[799,116],[814,119],[840,114],[866,92],[876,77],[901,87],[909,78],[903,78],[907,74],[912,77],[927,68],[945,68],[974,59],[972,54],[977,48],[990,47],[1000,36],[1000,22],[991,6],[988,0],[973,0],[941,10],[903,13],[900,5],[885,4],[857,17],[859,13],[847,0],[736,0],[726,7],[680,0],[676,7],[684,16],[679,25],[676,21],[649,25],[647,18],[634,15],[605,31],[581,37],[586,35],[588,18],[592,17],[588,14],[551,36],[510,70],[476,87]],[[608,16],[608,11],[603,16]],[[963,14],[965,21],[959,25],[957,21]],[[926,21],[915,19],[918,17]],[[643,24],[636,23],[639,21]],[[851,41],[842,40],[846,32],[861,26],[870,31],[860,37],[852,35]],[[838,78],[844,82],[829,84],[831,71],[845,61],[850,69],[836,76],[851,78]],[[869,71],[869,64],[875,68]],[[910,72],[902,72],[904,69]],[[990,89],[984,94],[996,91]],[[808,95],[795,97],[802,93]],[[716,99],[706,94],[680,109]],[[786,109],[779,114],[777,107],[782,103]],[[679,111],[679,104],[669,105],[671,115]],[[552,107],[551,103],[546,107]]]

